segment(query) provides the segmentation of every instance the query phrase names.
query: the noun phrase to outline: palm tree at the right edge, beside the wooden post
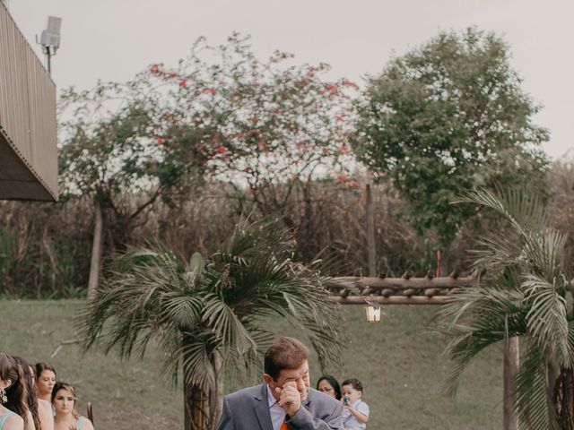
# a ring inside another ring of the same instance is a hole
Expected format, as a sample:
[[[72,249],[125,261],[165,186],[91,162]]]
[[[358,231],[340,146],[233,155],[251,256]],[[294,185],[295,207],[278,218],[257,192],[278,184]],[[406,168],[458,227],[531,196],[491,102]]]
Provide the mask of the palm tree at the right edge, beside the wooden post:
[[[518,337],[521,363],[514,404],[521,429],[574,429],[574,314],[566,236],[551,227],[544,204],[525,190],[466,194],[497,212],[504,227],[485,234],[474,270],[480,286],[457,295],[437,315],[452,359],[454,394],[465,366],[484,348]]]

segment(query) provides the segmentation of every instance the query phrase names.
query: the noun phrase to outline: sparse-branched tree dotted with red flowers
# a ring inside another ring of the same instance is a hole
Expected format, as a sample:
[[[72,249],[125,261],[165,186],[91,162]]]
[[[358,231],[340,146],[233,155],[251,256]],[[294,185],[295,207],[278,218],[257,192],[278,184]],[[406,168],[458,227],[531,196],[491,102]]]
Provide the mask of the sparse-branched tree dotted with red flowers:
[[[278,51],[262,61],[248,38],[234,34],[228,42],[210,47],[199,39],[177,67],[152,66],[178,121],[209,128],[196,149],[213,176],[264,214],[282,211],[296,186],[317,177],[338,174],[355,185],[345,166],[352,165],[350,96],[357,86],[327,81],[326,64],[293,65]]]

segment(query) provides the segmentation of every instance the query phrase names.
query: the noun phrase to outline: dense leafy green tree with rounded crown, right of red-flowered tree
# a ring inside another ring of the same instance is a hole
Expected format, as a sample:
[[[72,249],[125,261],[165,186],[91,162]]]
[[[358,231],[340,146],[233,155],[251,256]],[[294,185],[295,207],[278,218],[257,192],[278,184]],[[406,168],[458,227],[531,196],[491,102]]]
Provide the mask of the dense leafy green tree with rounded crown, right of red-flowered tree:
[[[526,182],[545,190],[548,132],[493,33],[442,32],[370,77],[359,103],[353,148],[410,202],[413,224],[448,245],[474,214],[453,206],[472,186]]]

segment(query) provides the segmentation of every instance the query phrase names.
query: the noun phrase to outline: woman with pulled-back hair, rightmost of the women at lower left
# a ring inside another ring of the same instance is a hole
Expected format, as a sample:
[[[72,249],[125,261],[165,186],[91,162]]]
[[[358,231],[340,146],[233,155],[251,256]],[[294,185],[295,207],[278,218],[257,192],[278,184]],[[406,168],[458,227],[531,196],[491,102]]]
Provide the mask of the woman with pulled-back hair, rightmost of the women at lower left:
[[[93,430],[91,421],[75,410],[75,389],[69,383],[58,381],[52,390],[52,405],[56,409],[54,430]]]

